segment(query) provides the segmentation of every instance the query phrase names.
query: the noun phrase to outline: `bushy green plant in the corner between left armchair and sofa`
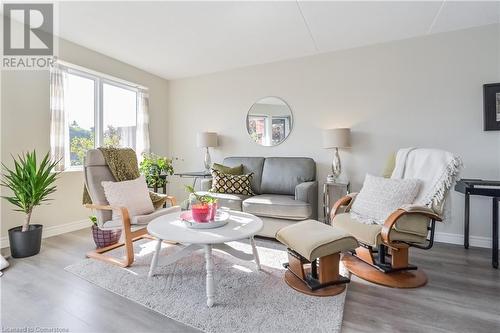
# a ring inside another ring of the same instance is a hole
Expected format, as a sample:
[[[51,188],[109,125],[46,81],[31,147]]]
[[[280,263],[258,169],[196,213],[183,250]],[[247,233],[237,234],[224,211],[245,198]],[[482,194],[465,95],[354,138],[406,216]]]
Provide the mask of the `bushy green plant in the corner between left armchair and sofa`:
[[[167,177],[174,174],[174,160],[177,158],[166,158],[154,153],[144,153],[139,164],[139,171],[146,177],[149,187],[163,187],[168,183]]]

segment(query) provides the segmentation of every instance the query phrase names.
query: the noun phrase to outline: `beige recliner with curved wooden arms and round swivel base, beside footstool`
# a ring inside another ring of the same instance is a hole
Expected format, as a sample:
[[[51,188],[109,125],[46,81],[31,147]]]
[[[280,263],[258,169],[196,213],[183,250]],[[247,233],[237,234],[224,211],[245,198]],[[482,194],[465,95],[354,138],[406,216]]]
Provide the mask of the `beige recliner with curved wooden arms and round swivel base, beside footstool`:
[[[456,173],[449,176],[449,184]],[[449,184],[446,192],[451,186]],[[441,196],[442,200],[430,207],[400,207],[387,217],[383,225],[364,224],[349,214],[356,200],[355,193],[339,199],[331,209],[331,225],[354,236],[360,244],[355,251],[343,257],[347,269],[364,280],[388,287],[416,288],[425,285],[427,277],[421,269],[409,263],[408,251],[410,247],[432,247],[436,222],[442,221],[446,192]]]

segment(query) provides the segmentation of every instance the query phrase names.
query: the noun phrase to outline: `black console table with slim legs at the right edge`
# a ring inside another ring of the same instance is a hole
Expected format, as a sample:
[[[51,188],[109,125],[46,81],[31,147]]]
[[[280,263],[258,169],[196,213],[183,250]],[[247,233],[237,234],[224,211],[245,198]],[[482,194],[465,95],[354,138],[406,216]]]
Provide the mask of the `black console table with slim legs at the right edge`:
[[[492,265],[498,268],[498,203],[500,201],[500,181],[482,179],[461,179],[455,185],[455,191],[465,194],[464,247],[469,248],[469,209],[470,196],[482,195],[492,198]]]

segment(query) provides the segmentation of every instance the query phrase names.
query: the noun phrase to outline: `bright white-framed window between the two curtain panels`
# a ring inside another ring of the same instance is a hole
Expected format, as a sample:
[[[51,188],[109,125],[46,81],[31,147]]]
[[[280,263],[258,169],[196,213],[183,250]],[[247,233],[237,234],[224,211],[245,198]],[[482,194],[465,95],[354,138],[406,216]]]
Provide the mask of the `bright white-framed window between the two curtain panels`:
[[[64,168],[81,168],[87,150],[95,147],[136,149],[141,89],[80,68],[60,69],[64,75]]]

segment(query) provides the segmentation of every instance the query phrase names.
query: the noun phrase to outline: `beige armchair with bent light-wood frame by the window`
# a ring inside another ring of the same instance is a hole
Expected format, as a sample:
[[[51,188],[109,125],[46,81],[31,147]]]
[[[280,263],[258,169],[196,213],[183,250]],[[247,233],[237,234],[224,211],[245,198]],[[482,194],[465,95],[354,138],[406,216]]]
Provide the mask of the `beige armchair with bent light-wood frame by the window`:
[[[156,217],[180,211],[180,207],[176,206],[174,197],[166,196],[171,207],[156,209],[148,215],[129,216],[127,207],[110,206],[104,195],[104,189],[101,185],[103,181],[115,181],[109,166],[104,160],[104,156],[98,149],[91,149],[87,152],[84,165],[85,186],[92,199],[92,204],[86,204],[86,208],[96,211],[97,221],[101,229],[118,229],[123,230],[123,242],[99,248],[87,253],[87,257],[103,260],[121,267],[128,267],[134,262],[134,246],[133,242],[142,238],[152,238],[147,233],[146,226]],[[112,211],[121,211],[122,219],[112,220]],[[105,255],[106,252],[125,246],[125,256],[121,259]]]

